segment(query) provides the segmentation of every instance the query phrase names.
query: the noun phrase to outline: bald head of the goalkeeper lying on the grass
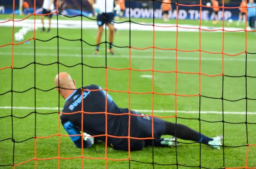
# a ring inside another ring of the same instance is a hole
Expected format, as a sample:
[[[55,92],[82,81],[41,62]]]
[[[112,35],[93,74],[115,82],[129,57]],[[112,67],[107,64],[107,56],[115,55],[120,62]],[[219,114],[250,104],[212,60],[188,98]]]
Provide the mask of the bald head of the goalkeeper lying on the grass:
[[[74,80],[72,80],[70,74],[67,72],[57,74],[54,82],[56,87],[60,86],[61,88],[66,89],[76,89]]]

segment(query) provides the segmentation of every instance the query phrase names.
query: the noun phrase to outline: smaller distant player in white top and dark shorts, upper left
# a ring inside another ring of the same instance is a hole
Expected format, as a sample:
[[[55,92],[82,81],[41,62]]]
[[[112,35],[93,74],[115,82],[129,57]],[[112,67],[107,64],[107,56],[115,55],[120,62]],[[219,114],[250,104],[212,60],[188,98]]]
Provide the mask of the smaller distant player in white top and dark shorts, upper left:
[[[49,14],[49,13],[51,13],[51,11],[54,9],[54,0],[44,0],[42,8],[43,8],[42,14],[48,14],[48,15],[44,15],[44,16],[42,15],[41,16],[41,21],[42,21],[42,24],[43,24],[43,29],[41,30],[41,32],[45,31],[45,29],[44,29],[44,17],[49,18],[49,29],[48,29],[47,32],[50,32],[52,14]]]

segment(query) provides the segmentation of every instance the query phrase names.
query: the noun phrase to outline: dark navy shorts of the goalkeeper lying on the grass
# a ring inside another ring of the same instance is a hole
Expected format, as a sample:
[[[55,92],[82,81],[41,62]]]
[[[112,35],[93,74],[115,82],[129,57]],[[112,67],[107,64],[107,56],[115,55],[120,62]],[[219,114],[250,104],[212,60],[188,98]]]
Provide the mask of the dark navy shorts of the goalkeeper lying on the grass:
[[[135,115],[143,115],[141,113],[137,113],[134,111],[131,111],[131,113]],[[155,146],[160,145],[160,141],[161,141],[160,137],[163,135],[163,131],[164,131],[164,121],[160,118],[154,117],[154,138],[155,138],[154,145]],[[128,135],[128,133],[126,134]],[[130,136],[137,137],[137,138],[152,137],[152,118],[148,116],[146,117],[131,116]],[[151,146],[151,145],[152,145],[151,139],[148,139],[148,140],[130,139],[131,151],[142,150],[144,146]],[[113,146],[113,149],[128,151],[128,139],[127,138],[120,139],[120,142],[117,143],[117,145]]]

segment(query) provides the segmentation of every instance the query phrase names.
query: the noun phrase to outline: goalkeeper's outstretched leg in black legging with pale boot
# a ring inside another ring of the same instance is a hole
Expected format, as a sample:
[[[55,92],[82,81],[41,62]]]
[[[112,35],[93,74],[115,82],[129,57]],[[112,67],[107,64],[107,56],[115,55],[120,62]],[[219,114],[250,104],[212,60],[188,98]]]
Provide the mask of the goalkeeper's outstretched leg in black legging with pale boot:
[[[200,134],[199,132],[189,128],[188,126],[185,126],[183,124],[175,124],[172,122],[164,121],[164,131],[163,135],[172,135],[176,136],[177,138],[183,139],[183,140],[192,140],[195,142],[201,142],[204,144],[209,144],[209,145],[217,145],[214,148],[219,148],[221,146],[221,141],[222,141],[222,136],[217,136],[217,137],[207,137],[203,135],[202,133]],[[161,143],[163,145],[168,144],[169,142],[168,139],[164,139]]]

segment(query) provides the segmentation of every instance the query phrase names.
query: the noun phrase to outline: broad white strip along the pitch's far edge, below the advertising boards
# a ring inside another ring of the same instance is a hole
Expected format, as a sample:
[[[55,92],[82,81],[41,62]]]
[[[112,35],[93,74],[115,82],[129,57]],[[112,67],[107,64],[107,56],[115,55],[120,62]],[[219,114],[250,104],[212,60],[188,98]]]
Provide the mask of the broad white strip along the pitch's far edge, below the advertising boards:
[[[0,20],[0,22],[4,22],[6,20]],[[23,27],[23,26],[36,26],[42,27],[41,20],[40,19],[26,19],[20,22],[5,22],[5,23],[0,23],[0,26],[7,26],[7,27],[12,27],[14,24],[15,27]],[[48,27],[49,26],[49,21],[45,20],[44,21],[44,26]],[[66,29],[98,29],[98,25],[96,21],[82,21],[81,25],[81,20],[58,20],[58,25],[57,25],[57,20],[52,19],[51,20],[51,27],[52,28],[66,28]],[[167,31],[167,32],[199,32],[199,26],[198,25],[178,25],[179,27],[176,27],[176,24],[167,24],[167,23],[157,23],[156,26],[152,26],[151,24],[145,26],[145,25],[138,25],[136,23],[122,23],[122,24],[114,24],[115,28],[119,30],[132,30],[132,31]],[[167,26],[167,27],[166,27]],[[108,27],[107,27],[108,29]],[[212,31],[212,32],[223,32],[222,27],[209,27],[209,26],[201,26],[201,29],[207,29],[207,30],[212,30],[212,29],[218,29],[218,31]],[[232,27],[225,27],[225,31],[239,31],[243,30],[241,28],[232,28]],[[248,27],[247,30],[250,30]],[[201,32],[205,32],[204,30],[201,30]],[[244,31],[241,31],[244,32]],[[211,33],[211,32],[208,32]]]

